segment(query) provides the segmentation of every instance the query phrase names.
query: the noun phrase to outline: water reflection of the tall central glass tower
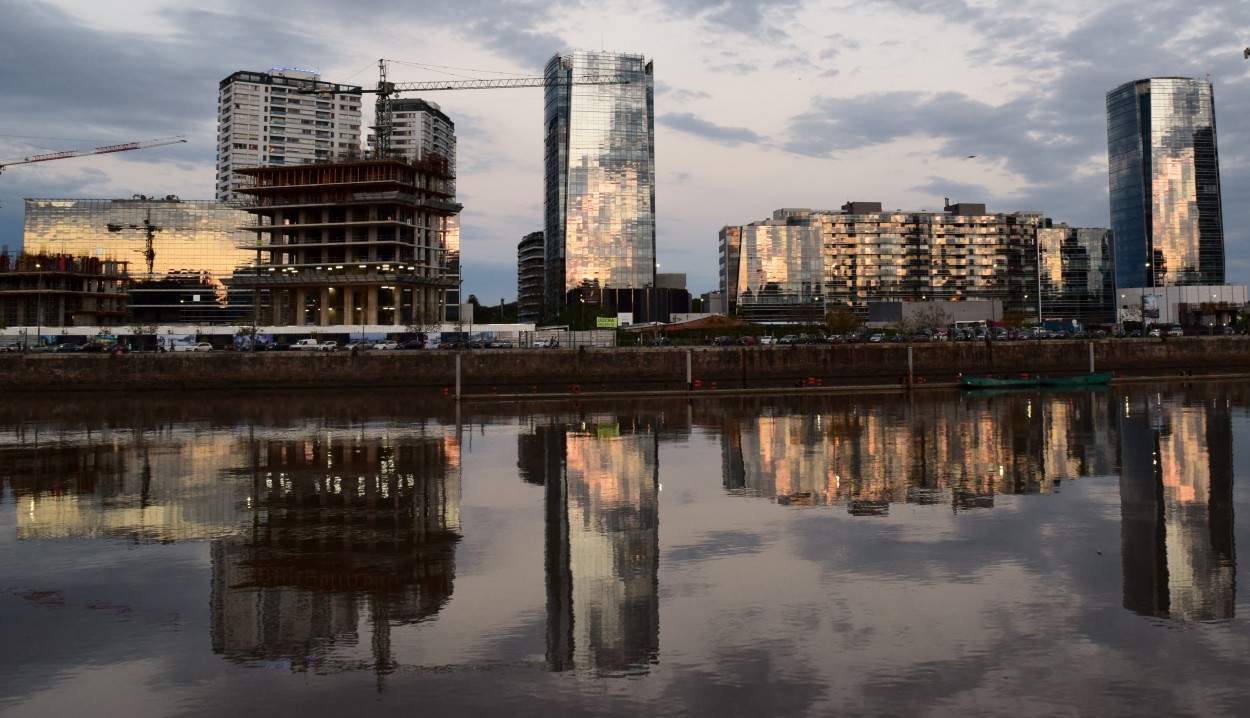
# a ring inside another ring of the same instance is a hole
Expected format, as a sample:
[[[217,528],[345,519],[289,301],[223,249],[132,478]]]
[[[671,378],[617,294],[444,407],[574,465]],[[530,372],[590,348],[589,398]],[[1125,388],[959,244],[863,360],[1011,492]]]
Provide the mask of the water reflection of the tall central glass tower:
[[[651,418],[594,417],[520,439],[522,478],[545,487],[551,670],[632,674],[658,660],[658,457]]]

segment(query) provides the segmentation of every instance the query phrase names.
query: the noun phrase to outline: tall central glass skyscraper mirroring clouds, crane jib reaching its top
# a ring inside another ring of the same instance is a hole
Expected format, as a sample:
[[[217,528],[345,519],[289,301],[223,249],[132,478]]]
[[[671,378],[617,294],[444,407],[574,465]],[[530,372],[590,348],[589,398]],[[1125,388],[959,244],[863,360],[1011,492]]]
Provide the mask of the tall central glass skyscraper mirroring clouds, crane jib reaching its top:
[[[655,284],[655,103],[641,55],[555,55],[545,128],[546,301]],[[585,76],[628,84],[572,84]]]

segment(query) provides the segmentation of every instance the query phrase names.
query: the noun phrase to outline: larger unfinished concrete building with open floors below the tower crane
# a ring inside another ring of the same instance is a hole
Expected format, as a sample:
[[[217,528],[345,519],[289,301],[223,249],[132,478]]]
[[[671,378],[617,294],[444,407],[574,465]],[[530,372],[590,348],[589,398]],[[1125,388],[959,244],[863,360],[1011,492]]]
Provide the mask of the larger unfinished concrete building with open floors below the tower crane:
[[[459,284],[459,214],[448,161],[374,159],[239,170],[256,253],[234,286],[274,325],[428,325]]]

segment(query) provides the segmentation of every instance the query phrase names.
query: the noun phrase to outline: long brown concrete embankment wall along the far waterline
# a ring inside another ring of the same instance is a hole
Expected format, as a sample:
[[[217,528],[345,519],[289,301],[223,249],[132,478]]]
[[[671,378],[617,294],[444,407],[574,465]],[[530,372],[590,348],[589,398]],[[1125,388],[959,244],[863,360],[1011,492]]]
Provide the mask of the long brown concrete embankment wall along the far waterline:
[[[1250,338],[1174,338],[916,344],[911,373],[929,383],[984,373],[1132,374],[1244,373]],[[176,390],[299,388],[429,388],[465,394],[766,389],[809,379],[822,387],[894,384],[909,373],[909,346],[796,345],[660,349],[486,349],[454,351],[179,353],[0,355],[0,389]]]

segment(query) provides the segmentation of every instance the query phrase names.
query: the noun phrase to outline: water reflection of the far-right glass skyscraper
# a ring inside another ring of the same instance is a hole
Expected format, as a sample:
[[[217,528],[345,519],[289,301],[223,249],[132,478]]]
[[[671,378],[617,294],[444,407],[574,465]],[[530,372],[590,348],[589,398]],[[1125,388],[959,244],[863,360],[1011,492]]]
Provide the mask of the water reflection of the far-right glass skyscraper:
[[[1221,400],[1122,399],[1124,607],[1178,620],[1234,617],[1232,419]]]

